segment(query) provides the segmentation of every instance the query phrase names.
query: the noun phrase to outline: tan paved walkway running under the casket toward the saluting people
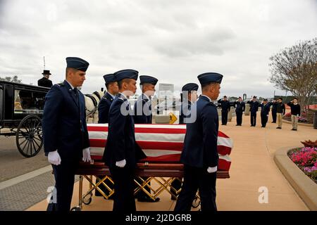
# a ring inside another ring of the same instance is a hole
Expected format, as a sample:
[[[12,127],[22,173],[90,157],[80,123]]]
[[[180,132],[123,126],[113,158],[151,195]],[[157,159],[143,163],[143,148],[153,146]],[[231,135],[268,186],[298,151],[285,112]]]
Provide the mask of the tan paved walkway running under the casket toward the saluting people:
[[[220,126],[220,130],[233,139],[234,148],[230,155],[230,179],[217,181],[218,210],[309,210],[273,162],[273,154],[282,147],[302,146],[299,141],[315,140],[316,129],[299,126],[298,131],[291,131],[290,124],[275,129],[276,124],[271,123],[271,117],[267,127],[261,128],[259,113],[257,127],[249,127],[249,123],[249,116],[246,116],[242,127],[236,127],[234,117],[227,126]],[[78,203],[77,185],[73,206]],[[268,203],[259,203],[261,186],[268,188]],[[170,200],[170,195],[164,192],[160,197],[159,203],[137,203],[137,210],[173,210],[175,201]],[[112,204],[112,200],[94,197],[83,210],[111,210]],[[46,200],[28,210],[46,210]]]

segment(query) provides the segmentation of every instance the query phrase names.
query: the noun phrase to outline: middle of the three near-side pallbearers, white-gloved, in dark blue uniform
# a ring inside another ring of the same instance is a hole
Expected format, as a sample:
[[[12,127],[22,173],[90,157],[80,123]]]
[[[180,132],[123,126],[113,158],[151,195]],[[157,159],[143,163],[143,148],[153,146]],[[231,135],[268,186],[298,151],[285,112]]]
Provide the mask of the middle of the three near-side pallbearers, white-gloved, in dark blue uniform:
[[[114,75],[119,93],[109,110],[108,138],[103,160],[114,182],[113,211],[135,212],[135,167],[138,160],[146,158],[135,141],[135,122],[128,101],[128,97],[137,90],[138,72],[120,70]]]

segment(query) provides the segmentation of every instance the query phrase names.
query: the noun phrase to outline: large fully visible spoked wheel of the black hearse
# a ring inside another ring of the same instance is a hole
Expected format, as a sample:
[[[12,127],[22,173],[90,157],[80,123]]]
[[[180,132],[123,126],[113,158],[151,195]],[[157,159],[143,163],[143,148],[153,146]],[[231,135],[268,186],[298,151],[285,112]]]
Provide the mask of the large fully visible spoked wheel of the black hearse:
[[[15,135],[19,152],[30,158],[37,155],[43,146],[42,122],[37,115],[27,115],[21,120]]]

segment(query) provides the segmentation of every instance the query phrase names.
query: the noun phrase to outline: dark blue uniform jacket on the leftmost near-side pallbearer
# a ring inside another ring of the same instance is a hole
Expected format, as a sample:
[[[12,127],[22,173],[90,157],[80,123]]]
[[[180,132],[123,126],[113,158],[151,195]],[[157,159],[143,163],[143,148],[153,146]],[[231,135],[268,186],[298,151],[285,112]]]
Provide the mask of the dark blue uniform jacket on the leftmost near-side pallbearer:
[[[85,98],[77,96],[68,82],[55,84],[45,96],[42,129],[44,152],[58,150],[61,160],[82,158],[82,149],[89,147]]]

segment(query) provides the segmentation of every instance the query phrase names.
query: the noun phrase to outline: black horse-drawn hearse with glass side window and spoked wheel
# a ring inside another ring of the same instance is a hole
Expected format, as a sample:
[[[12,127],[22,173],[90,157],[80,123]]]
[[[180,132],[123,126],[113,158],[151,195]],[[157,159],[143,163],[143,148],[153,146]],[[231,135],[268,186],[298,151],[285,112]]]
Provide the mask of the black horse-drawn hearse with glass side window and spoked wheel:
[[[43,146],[41,118],[49,88],[0,80],[0,135],[15,136],[22,155],[32,157]]]

